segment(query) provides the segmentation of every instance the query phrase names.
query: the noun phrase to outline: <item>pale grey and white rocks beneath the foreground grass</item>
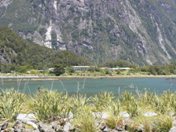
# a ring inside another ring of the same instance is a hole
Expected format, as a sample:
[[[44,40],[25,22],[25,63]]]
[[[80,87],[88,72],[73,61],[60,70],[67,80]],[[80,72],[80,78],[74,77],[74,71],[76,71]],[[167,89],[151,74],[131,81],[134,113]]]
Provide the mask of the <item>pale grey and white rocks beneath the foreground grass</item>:
[[[127,112],[119,113],[121,120],[112,128],[106,122],[109,120],[110,115],[106,112],[92,113],[95,118],[95,126],[97,132],[146,132],[146,126],[140,124],[135,128],[130,128],[133,120]],[[145,112],[143,114],[146,118],[154,118],[158,116],[155,112]],[[0,125],[1,132],[81,132],[78,127],[72,124],[74,115],[69,113],[67,118],[57,118],[50,122],[37,121],[34,114],[18,114],[16,121],[4,121]],[[155,124],[153,124],[155,125]],[[156,126],[157,130],[157,126]],[[165,129],[167,132],[167,128]],[[88,131],[87,131],[88,132]],[[92,130],[92,132],[95,132]],[[149,130],[147,132],[153,132]],[[156,131],[159,132],[159,131]],[[176,132],[176,120],[173,118],[172,127],[168,132]]]

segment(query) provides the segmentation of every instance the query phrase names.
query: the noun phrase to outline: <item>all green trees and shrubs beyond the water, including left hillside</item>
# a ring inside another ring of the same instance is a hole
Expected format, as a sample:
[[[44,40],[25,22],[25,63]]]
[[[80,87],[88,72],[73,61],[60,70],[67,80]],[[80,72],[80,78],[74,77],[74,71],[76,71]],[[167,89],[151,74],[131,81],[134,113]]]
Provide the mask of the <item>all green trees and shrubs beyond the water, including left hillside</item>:
[[[106,76],[106,75],[175,75],[176,64],[161,66],[136,66],[128,61],[108,61],[100,66],[92,66],[87,71],[75,72],[71,66],[91,65],[86,58],[69,51],[56,51],[23,40],[8,28],[0,28],[0,72],[1,73],[43,73],[55,68],[54,75]],[[107,67],[102,69],[101,67]],[[112,71],[108,68],[130,67],[130,70]],[[39,70],[40,72],[30,72]]]

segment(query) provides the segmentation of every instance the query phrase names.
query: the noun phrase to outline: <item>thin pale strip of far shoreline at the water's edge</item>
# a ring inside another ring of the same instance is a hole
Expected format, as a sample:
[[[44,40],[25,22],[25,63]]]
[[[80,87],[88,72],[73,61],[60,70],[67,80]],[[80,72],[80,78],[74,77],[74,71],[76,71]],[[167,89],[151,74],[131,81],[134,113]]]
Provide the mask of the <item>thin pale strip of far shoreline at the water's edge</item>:
[[[63,80],[63,79],[120,79],[120,78],[176,78],[176,75],[112,75],[112,76],[45,76],[45,75],[0,75],[0,79]]]

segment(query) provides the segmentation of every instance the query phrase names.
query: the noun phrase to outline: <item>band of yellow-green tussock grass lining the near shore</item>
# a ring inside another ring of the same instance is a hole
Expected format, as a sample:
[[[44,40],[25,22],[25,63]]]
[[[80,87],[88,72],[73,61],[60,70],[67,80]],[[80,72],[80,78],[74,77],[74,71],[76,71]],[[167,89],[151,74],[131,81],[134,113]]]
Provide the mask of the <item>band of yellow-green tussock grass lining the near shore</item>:
[[[13,123],[19,113],[34,113],[37,121],[50,123],[72,119],[75,131],[96,132],[102,126],[129,132],[168,132],[176,114],[176,93],[162,95],[145,92],[132,95],[100,93],[92,97],[80,94],[40,90],[26,95],[14,90],[0,93],[0,121]],[[153,115],[150,115],[154,113]],[[103,117],[104,116],[104,117]]]

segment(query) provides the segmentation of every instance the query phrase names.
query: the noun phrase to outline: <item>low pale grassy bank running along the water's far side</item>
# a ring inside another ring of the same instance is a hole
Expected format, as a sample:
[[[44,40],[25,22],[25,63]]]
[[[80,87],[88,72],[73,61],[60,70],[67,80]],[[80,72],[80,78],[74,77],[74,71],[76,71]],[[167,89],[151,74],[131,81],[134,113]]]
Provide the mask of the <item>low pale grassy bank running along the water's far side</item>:
[[[60,76],[49,75],[49,74],[11,74],[11,73],[0,73],[1,79],[32,79],[32,80],[59,80],[59,79],[75,79],[75,78],[176,78],[176,75],[147,75],[147,74],[123,74],[123,75],[100,75],[95,73],[79,73],[79,74],[63,74]]]

